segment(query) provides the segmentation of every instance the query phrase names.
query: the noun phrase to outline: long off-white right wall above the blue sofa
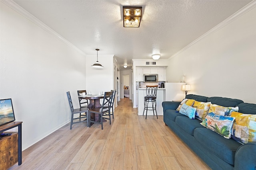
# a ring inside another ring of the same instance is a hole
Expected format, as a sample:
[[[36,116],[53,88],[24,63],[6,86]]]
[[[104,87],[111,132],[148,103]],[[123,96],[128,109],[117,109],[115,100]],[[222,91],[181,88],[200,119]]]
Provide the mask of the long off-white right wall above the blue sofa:
[[[191,84],[188,94],[256,103],[256,8],[170,59],[168,82]]]

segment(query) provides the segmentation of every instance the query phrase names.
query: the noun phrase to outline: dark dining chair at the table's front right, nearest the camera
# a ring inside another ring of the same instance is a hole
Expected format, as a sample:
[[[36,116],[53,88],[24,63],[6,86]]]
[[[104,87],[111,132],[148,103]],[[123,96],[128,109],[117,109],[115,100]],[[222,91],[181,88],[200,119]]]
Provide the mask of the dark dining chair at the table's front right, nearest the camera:
[[[103,118],[109,120],[109,124],[111,125],[111,116],[110,116],[110,106],[111,99],[113,96],[113,92],[105,92],[104,98],[102,101],[102,107],[89,109],[89,127],[91,127],[91,123],[99,123],[101,124],[101,129],[103,129]],[[95,121],[91,119],[91,114],[98,114],[100,116],[99,121]]]

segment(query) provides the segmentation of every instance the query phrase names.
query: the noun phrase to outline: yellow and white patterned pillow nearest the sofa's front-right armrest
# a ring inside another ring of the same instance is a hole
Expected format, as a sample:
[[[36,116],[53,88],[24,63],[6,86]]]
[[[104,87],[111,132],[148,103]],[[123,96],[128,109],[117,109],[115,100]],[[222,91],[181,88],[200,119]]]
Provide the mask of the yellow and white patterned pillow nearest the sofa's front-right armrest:
[[[236,120],[231,129],[231,138],[239,143],[256,142],[256,115],[231,113]]]

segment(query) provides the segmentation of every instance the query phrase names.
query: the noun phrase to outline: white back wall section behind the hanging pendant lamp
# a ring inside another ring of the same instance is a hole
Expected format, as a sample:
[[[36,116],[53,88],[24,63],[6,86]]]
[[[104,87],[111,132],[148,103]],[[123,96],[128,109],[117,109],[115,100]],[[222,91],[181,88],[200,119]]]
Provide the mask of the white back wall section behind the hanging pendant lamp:
[[[96,53],[96,51],[95,51]],[[101,55],[98,51],[98,61],[104,68],[92,68],[91,65],[97,61],[97,55],[86,55],[86,91],[92,94],[109,92],[114,89],[114,55]]]

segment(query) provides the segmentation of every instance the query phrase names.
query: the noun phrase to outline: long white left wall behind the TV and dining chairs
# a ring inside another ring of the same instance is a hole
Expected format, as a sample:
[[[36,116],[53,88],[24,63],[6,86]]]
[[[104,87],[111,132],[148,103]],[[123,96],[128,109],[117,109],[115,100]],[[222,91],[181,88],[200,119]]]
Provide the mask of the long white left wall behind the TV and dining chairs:
[[[0,2],[0,98],[12,98],[22,150],[70,121],[78,107],[85,55]]]

